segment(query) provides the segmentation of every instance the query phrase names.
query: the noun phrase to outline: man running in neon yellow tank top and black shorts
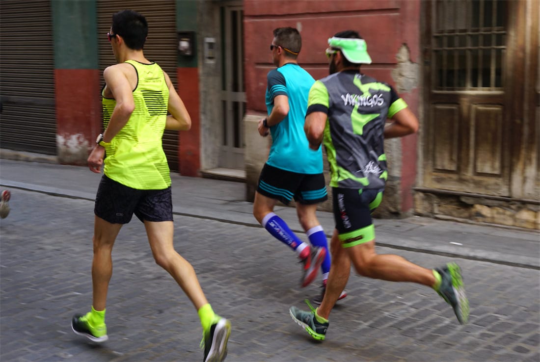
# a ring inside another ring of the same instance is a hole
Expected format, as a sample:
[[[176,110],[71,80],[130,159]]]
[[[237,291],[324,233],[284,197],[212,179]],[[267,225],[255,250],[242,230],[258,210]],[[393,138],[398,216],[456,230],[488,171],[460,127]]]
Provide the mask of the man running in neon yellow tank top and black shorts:
[[[171,177],[161,138],[164,129],[187,131],[191,119],[167,73],[145,58],[147,33],[145,17],[132,10],[115,13],[107,33],[118,64],[103,72],[105,131],[88,158],[92,172],[100,173],[105,163],[94,209],[93,300],[91,311],[75,315],[71,326],[92,341],[108,339],[105,303],[112,275],[111,251],[120,228],[135,214],[144,223],[156,263],[198,311],[204,361],[222,361],[231,324],[213,312],[192,265],[173,247]]]

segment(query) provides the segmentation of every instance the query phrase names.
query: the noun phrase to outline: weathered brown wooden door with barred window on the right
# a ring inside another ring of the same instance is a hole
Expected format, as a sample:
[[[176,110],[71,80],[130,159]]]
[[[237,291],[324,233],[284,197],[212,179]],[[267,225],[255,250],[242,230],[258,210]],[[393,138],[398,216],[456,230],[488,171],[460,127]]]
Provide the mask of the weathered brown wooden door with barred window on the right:
[[[510,194],[509,3],[424,2],[426,187]]]

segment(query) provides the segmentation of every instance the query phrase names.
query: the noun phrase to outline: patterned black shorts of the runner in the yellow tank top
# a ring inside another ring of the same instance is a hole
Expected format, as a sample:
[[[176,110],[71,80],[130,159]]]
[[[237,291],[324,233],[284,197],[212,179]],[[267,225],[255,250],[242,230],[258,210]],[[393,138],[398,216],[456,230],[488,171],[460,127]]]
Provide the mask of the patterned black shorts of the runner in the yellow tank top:
[[[133,214],[140,221],[172,221],[171,187],[137,190],[103,175],[96,194],[94,214],[113,224],[127,224]]]

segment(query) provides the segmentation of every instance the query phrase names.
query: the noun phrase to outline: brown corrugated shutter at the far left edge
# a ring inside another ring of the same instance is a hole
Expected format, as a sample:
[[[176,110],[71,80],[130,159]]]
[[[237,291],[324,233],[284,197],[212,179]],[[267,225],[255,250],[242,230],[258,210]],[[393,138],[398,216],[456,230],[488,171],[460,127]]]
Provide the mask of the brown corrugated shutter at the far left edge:
[[[0,102],[0,147],[56,155],[49,0],[2,0]]]

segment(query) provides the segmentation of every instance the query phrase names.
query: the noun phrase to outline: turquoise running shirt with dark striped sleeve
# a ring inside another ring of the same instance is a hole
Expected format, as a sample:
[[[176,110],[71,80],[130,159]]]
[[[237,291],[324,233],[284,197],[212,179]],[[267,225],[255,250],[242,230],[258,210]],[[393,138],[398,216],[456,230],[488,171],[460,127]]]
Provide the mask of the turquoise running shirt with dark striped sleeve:
[[[266,108],[268,114],[274,108],[274,98],[286,95],[289,113],[278,124],[270,127],[272,147],[268,165],[303,174],[322,173],[322,151],[309,148],[303,126],[306,119],[309,89],[315,79],[300,65],[287,63],[268,72]]]

